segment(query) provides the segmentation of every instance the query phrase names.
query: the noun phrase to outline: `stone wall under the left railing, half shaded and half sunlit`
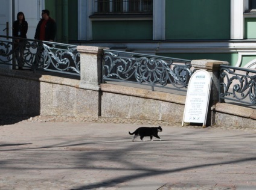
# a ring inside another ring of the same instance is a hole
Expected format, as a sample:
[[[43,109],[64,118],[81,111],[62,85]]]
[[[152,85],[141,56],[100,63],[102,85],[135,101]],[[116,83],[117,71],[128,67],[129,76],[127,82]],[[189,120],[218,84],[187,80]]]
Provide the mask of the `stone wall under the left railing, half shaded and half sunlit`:
[[[1,115],[98,117],[99,93],[79,88],[80,80],[0,70],[0,84]]]

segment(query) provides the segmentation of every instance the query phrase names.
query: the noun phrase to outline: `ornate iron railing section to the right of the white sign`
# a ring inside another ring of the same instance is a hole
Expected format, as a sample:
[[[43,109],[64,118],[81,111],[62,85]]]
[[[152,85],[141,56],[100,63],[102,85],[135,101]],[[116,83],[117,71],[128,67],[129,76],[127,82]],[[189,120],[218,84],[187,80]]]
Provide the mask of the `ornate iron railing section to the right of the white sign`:
[[[232,100],[256,105],[256,70],[222,65],[220,67],[219,101]]]

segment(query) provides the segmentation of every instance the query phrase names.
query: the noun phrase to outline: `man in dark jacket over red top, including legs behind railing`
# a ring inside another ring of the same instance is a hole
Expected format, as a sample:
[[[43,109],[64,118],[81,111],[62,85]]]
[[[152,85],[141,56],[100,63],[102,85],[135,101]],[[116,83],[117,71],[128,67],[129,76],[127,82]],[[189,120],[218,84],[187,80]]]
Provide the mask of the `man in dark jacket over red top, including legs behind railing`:
[[[50,17],[49,10],[42,10],[42,19],[39,21],[36,27],[36,34],[34,38],[36,40],[42,41],[54,41],[56,36],[57,26],[55,20]],[[50,44],[51,46],[51,44]],[[37,54],[34,60],[33,70],[36,70],[37,67],[43,67],[43,61],[40,62],[43,58],[43,43],[39,42],[37,44]]]

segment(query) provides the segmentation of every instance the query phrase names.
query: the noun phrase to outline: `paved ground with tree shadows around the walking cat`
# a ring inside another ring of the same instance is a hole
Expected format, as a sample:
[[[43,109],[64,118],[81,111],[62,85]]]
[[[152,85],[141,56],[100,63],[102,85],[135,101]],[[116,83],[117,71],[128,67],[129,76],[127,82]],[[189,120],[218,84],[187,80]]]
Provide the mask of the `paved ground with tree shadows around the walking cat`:
[[[145,121],[21,121],[0,126],[0,189],[256,189],[256,132]]]

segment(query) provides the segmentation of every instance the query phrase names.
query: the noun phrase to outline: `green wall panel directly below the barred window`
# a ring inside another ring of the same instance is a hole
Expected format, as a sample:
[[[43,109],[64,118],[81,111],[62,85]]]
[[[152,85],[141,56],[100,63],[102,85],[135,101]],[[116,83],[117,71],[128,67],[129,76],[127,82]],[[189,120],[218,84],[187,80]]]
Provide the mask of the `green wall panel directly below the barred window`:
[[[152,20],[93,21],[94,40],[152,40]]]

